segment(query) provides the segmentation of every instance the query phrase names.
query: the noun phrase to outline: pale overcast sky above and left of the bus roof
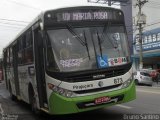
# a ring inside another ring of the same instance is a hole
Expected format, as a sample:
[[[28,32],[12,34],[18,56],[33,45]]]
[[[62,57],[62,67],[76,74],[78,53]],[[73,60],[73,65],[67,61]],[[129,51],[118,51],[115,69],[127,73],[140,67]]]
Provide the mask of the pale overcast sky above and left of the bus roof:
[[[3,48],[42,11],[86,3],[87,0],[0,0],[0,57]]]

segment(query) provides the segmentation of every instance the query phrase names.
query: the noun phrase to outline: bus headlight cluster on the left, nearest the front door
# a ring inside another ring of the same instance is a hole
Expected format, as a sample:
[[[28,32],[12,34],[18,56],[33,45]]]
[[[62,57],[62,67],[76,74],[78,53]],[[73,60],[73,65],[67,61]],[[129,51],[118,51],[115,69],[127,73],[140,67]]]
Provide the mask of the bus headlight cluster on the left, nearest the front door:
[[[64,97],[74,97],[75,96],[74,92],[72,92],[70,90],[60,88],[60,87],[55,86],[51,83],[48,83],[48,88],[51,89],[52,91],[58,93],[59,95],[64,96]]]

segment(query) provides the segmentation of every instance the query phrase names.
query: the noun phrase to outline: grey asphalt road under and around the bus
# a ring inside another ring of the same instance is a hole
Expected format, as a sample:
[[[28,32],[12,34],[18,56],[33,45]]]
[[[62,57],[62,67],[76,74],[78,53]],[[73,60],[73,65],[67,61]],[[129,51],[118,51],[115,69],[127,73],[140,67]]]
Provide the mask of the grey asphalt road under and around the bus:
[[[34,115],[27,104],[12,101],[4,83],[0,83],[0,113],[6,116],[10,115],[8,120],[11,118],[14,120],[17,120],[16,118],[18,120],[138,120],[139,118],[145,119],[145,115],[153,114],[156,115],[150,120],[159,120],[160,87],[138,86],[136,91],[137,99],[129,103],[80,114],[49,116],[46,114]]]

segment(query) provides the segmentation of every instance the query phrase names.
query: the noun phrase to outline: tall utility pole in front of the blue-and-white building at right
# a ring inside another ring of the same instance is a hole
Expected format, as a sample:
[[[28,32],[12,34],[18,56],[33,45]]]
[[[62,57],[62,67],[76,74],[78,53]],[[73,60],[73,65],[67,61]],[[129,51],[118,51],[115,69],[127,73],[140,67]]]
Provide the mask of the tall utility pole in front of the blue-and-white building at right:
[[[137,0],[136,6],[139,8],[138,16],[137,16],[137,26],[139,27],[139,68],[143,68],[143,47],[142,47],[142,31],[143,25],[146,24],[146,16],[142,13],[142,7],[148,0]]]

